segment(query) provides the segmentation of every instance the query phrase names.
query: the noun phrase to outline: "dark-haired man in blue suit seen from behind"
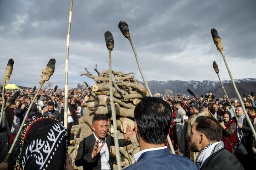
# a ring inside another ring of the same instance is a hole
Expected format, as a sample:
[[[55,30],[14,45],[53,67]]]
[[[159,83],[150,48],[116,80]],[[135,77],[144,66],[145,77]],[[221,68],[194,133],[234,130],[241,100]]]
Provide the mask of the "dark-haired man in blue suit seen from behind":
[[[145,97],[136,105],[134,119],[141,151],[134,155],[136,163],[125,170],[198,170],[190,159],[172,154],[164,145],[172,120],[168,103],[160,98]]]

